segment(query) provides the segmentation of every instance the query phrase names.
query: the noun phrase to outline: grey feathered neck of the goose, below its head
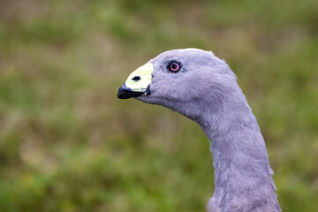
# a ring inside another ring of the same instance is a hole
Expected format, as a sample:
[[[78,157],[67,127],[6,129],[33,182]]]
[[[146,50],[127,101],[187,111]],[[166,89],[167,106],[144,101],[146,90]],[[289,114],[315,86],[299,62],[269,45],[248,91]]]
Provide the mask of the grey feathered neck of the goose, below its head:
[[[196,121],[210,140],[215,193],[208,211],[281,211],[259,125],[239,87],[231,96],[206,98]],[[207,107],[207,105],[209,105]]]

